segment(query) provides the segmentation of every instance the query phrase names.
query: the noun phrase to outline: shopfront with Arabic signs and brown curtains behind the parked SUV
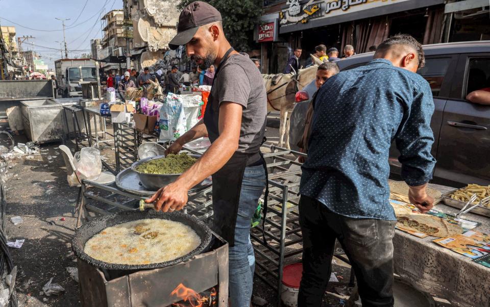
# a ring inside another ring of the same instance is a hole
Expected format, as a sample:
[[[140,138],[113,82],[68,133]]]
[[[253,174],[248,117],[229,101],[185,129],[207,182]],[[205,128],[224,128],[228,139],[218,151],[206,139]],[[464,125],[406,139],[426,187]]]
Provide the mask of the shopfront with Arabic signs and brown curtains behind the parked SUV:
[[[423,44],[490,39],[488,5],[486,0],[267,1],[256,31],[262,69],[282,72],[297,47],[306,66],[316,45],[336,47],[339,56],[346,45],[365,53],[398,33]]]

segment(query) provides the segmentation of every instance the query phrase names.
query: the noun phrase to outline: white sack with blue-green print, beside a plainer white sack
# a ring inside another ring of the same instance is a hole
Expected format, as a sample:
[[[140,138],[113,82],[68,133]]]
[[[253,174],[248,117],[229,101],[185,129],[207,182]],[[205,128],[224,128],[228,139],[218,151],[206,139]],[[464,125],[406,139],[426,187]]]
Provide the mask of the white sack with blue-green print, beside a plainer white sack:
[[[159,113],[160,140],[175,141],[187,131],[182,95],[168,93]]]

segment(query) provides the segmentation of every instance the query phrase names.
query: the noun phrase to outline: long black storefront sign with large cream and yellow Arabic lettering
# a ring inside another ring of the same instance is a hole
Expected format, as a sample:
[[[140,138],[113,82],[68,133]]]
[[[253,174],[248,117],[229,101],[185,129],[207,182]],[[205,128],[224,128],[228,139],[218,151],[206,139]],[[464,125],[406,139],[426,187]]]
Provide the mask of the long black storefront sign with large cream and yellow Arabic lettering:
[[[281,25],[306,23],[311,19],[354,13],[405,1],[408,0],[310,0],[301,5],[299,0],[287,0],[288,8],[279,12],[279,18]]]

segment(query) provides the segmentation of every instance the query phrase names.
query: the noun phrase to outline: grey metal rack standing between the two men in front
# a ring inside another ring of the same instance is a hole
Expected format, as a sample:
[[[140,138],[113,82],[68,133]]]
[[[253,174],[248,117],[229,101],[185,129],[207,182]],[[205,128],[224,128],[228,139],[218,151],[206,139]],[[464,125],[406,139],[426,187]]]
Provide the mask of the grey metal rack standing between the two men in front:
[[[300,260],[301,257],[295,261],[290,259],[298,258],[303,252],[298,210],[301,163],[290,155],[305,155],[274,145],[264,144],[263,147],[271,150],[264,154],[268,169],[268,211],[264,226],[252,228],[250,236],[255,249],[255,274],[278,292],[280,302],[282,269],[288,261]]]

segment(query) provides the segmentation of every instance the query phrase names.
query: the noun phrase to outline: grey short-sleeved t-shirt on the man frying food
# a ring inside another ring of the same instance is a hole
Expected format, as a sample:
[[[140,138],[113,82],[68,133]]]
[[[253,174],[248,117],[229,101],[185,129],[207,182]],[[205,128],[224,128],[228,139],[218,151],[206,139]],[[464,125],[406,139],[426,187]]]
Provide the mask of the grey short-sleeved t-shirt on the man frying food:
[[[219,68],[211,93],[219,104],[230,101],[243,106],[238,151],[258,152],[265,132],[267,95],[262,75],[247,54],[228,58]]]

